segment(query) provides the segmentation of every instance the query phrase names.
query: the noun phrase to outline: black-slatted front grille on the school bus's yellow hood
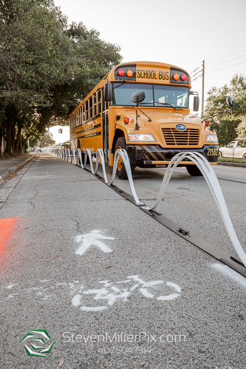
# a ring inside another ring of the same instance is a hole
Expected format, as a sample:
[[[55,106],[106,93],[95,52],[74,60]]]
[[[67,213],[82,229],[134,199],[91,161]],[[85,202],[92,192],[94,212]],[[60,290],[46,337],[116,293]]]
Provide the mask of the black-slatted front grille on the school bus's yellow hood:
[[[199,129],[187,128],[178,131],[175,128],[161,128],[166,146],[196,146],[199,143]]]

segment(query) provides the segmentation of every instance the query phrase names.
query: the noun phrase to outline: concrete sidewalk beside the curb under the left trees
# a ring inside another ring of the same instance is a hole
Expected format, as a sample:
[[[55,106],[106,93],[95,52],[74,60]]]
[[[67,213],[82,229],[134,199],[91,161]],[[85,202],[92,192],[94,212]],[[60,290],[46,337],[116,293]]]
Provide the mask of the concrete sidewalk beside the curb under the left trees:
[[[11,173],[25,165],[36,154],[38,153],[28,153],[6,159],[0,159],[0,184],[6,181]]]

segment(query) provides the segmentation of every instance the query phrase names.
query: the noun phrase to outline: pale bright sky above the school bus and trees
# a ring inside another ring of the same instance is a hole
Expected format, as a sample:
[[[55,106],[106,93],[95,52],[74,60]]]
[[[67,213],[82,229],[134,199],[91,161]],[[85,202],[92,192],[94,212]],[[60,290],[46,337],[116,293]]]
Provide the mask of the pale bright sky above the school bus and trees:
[[[246,76],[246,0],[54,1],[69,24],[82,22],[118,44],[122,62],[164,62],[193,75],[204,60],[205,105],[213,86],[229,84],[236,73]],[[191,84],[201,98],[202,77]],[[69,133],[53,137],[64,142]]]

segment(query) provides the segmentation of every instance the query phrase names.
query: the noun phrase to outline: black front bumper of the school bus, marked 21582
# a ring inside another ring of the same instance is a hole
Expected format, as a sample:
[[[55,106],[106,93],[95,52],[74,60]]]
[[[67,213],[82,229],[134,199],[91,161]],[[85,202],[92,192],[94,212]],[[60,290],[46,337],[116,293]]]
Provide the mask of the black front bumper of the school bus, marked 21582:
[[[170,160],[179,153],[200,153],[211,163],[215,164],[218,159],[219,146],[204,145],[202,148],[190,149],[162,149],[158,145],[126,145],[129,160],[136,166],[167,166]],[[179,166],[193,164],[191,160],[182,161]]]

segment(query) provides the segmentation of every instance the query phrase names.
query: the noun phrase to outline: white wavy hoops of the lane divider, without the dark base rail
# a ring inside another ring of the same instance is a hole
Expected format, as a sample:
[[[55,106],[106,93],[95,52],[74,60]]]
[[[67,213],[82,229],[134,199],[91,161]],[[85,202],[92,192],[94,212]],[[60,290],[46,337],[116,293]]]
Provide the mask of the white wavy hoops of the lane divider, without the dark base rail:
[[[69,152],[70,152],[70,150],[69,150]],[[223,196],[223,193],[221,191],[220,185],[218,183],[217,177],[216,177],[215,172],[214,172],[212,166],[210,165],[209,161],[202,154],[197,153],[197,152],[188,152],[188,153],[185,152],[185,153],[179,153],[179,154],[175,155],[172,158],[172,160],[170,161],[170,163],[169,163],[169,165],[168,165],[168,167],[165,171],[165,175],[163,177],[162,184],[161,184],[157,199],[156,199],[154,205],[152,207],[150,207],[150,206],[146,206],[144,203],[142,203],[138,199],[138,196],[137,196],[134,184],[133,184],[133,180],[132,180],[129,158],[128,158],[128,155],[127,155],[125,150],[118,149],[115,153],[114,165],[113,165],[113,174],[112,174],[111,182],[109,182],[107,180],[106,170],[105,170],[104,154],[103,154],[102,149],[97,149],[97,152],[96,152],[96,168],[95,168],[95,171],[93,171],[92,153],[91,153],[90,149],[86,149],[86,151],[85,151],[85,164],[83,164],[82,154],[81,154],[80,149],[77,150],[77,155],[75,154],[75,149],[72,149],[72,152],[73,152],[73,157],[74,157],[74,164],[79,165],[78,163],[79,163],[79,158],[80,158],[80,163],[81,163],[82,169],[86,168],[87,156],[89,156],[92,174],[97,173],[99,159],[101,159],[104,180],[105,180],[105,183],[109,184],[109,185],[113,185],[113,183],[115,181],[116,169],[117,169],[117,165],[118,165],[118,162],[119,162],[119,159],[120,159],[120,156],[121,156],[122,159],[123,159],[125,169],[126,169],[128,181],[129,181],[129,184],[130,184],[130,187],[131,187],[131,191],[132,191],[134,200],[135,200],[135,202],[138,206],[141,206],[141,208],[145,209],[146,211],[154,211],[154,209],[159,205],[159,203],[160,203],[160,201],[161,201],[161,199],[162,199],[162,197],[165,193],[167,185],[170,181],[170,178],[171,178],[174,170],[176,169],[177,165],[182,160],[189,159],[189,160],[193,161],[193,163],[202,172],[207,184],[209,185],[209,188],[210,188],[210,190],[211,190],[211,192],[212,192],[212,194],[215,198],[215,202],[217,204],[220,215],[221,215],[221,217],[224,221],[224,224],[225,224],[226,230],[228,232],[228,235],[231,239],[231,242],[232,242],[237,254],[240,257],[240,260],[242,261],[242,263],[246,267],[246,254],[245,254],[245,252],[244,252],[244,250],[243,250],[243,248],[242,248],[242,246],[241,246],[241,244],[238,240],[238,237],[237,237],[236,232],[234,230],[234,227],[232,225],[231,218],[230,218],[230,215],[228,213],[227,206],[226,206],[225,200],[224,200],[224,196]],[[61,150],[58,150],[58,155],[60,157],[64,158],[64,155],[62,155]],[[70,163],[72,163],[72,156],[71,156],[71,160],[70,160],[70,153],[69,153],[69,161],[70,161]]]

